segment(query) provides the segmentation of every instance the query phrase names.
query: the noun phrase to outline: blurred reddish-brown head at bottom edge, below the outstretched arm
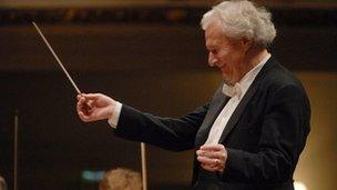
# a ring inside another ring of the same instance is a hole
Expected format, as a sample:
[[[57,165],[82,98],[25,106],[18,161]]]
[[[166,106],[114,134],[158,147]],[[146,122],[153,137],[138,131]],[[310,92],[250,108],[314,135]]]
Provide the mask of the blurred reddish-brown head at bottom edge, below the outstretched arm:
[[[141,190],[141,174],[130,169],[118,168],[108,171],[100,182],[100,190]]]

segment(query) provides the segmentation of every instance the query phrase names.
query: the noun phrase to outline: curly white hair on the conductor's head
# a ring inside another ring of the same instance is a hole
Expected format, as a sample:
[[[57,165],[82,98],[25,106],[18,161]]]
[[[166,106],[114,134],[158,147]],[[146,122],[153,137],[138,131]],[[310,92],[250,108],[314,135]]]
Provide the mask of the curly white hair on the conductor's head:
[[[204,30],[213,22],[219,22],[229,39],[246,38],[263,47],[268,47],[276,37],[272,14],[263,7],[255,7],[247,0],[224,1],[203,16]]]

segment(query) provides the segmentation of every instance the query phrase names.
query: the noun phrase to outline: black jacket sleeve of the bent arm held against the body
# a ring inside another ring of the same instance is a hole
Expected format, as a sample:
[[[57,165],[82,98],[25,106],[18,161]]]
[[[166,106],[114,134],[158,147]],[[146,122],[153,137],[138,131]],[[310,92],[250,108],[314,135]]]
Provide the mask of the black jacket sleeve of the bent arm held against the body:
[[[293,178],[309,132],[310,108],[295,84],[278,88],[267,100],[256,152],[227,149],[224,180],[282,182]]]

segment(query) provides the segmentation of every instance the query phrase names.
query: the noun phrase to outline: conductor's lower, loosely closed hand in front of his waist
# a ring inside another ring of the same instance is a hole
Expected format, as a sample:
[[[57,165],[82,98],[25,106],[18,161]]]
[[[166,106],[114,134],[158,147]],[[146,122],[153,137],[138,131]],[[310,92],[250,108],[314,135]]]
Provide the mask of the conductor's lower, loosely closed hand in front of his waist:
[[[203,169],[224,172],[227,150],[223,144],[204,144],[196,151],[196,156]]]

